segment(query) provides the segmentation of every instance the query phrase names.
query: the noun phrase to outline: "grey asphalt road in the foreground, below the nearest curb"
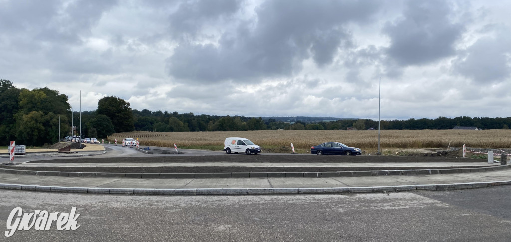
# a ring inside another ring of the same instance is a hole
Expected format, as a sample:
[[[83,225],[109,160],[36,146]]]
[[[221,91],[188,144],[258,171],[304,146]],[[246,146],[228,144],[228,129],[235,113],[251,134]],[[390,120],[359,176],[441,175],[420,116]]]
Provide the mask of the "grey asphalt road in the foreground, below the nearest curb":
[[[77,230],[2,241],[509,241],[509,186],[289,196],[134,196],[0,190],[0,225],[25,212],[81,215]]]

